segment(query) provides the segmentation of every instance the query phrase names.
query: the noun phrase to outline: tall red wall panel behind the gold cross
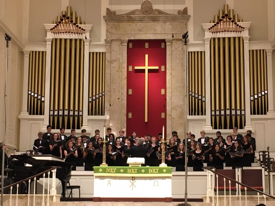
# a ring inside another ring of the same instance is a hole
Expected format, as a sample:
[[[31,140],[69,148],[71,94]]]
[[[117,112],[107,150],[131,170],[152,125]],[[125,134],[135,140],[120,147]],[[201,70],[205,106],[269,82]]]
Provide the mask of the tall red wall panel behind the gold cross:
[[[158,137],[158,133],[162,132],[162,125],[166,128],[166,45],[164,42],[165,40],[130,40],[128,42],[127,136],[131,136],[132,131],[135,131],[140,137],[147,134]],[[129,44],[132,44],[131,48]],[[146,58],[148,59],[147,122],[145,118]]]

